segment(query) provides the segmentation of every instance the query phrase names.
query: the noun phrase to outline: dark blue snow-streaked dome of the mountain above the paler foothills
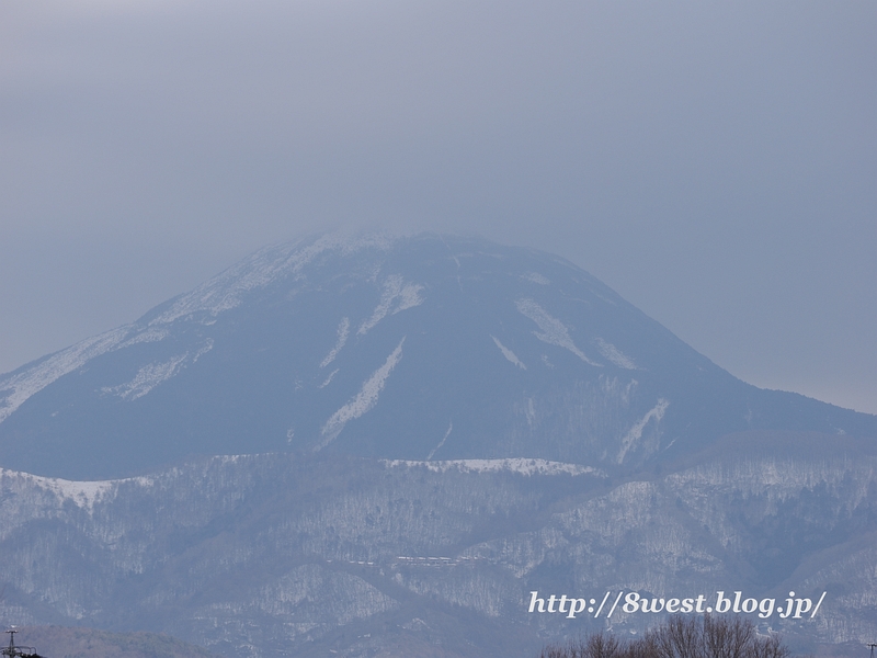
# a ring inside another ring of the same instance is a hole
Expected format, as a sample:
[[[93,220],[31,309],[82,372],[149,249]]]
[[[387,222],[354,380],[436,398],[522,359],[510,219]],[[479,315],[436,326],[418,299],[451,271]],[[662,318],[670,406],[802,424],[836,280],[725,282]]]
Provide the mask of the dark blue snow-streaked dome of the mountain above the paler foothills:
[[[0,377],[0,465],[79,479],[269,452],[622,473],[743,430],[877,419],[740,382],[563,259],[432,234],[269,247]]]

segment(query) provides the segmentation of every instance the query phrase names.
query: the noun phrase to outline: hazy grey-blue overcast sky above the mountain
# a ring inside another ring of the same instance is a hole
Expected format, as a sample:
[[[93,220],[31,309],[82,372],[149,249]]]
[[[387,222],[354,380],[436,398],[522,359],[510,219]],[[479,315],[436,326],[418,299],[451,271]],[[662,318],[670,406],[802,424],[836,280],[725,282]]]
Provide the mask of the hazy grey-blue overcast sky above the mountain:
[[[0,372],[352,224],[877,412],[877,3],[0,0]]]

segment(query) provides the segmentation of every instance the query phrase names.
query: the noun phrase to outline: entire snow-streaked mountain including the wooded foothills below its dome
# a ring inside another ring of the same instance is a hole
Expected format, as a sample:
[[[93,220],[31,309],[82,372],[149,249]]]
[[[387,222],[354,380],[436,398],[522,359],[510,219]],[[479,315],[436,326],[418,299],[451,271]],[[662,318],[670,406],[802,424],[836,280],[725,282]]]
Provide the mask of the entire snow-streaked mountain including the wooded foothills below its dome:
[[[877,417],[740,382],[550,254],[271,247],[0,399],[4,623],[523,658],[740,592],[799,650],[877,636]]]

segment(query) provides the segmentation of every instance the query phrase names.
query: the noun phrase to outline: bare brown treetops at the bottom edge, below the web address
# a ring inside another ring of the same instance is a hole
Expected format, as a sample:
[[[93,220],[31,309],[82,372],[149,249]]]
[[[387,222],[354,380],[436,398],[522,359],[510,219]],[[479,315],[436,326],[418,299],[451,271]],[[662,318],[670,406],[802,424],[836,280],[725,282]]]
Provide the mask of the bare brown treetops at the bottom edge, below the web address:
[[[566,645],[548,645],[539,658],[788,658],[778,635],[755,633],[741,617],[671,616],[641,637],[596,633]]]

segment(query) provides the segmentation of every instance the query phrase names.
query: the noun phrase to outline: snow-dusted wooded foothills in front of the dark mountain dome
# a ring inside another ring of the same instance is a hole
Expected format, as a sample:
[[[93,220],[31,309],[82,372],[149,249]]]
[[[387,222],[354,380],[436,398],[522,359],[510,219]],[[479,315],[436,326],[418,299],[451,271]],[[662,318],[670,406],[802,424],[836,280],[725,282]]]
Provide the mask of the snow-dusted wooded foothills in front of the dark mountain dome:
[[[170,633],[240,657],[535,656],[659,615],[529,613],[531,592],[744,598],[796,648],[877,633],[874,441],[749,433],[661,476],[535,461],[210,457],[102,483],[0,473],[7,623]],[[841,655],[835,647],[832,655]],[[857,654],[853,654],[857,655]]]

